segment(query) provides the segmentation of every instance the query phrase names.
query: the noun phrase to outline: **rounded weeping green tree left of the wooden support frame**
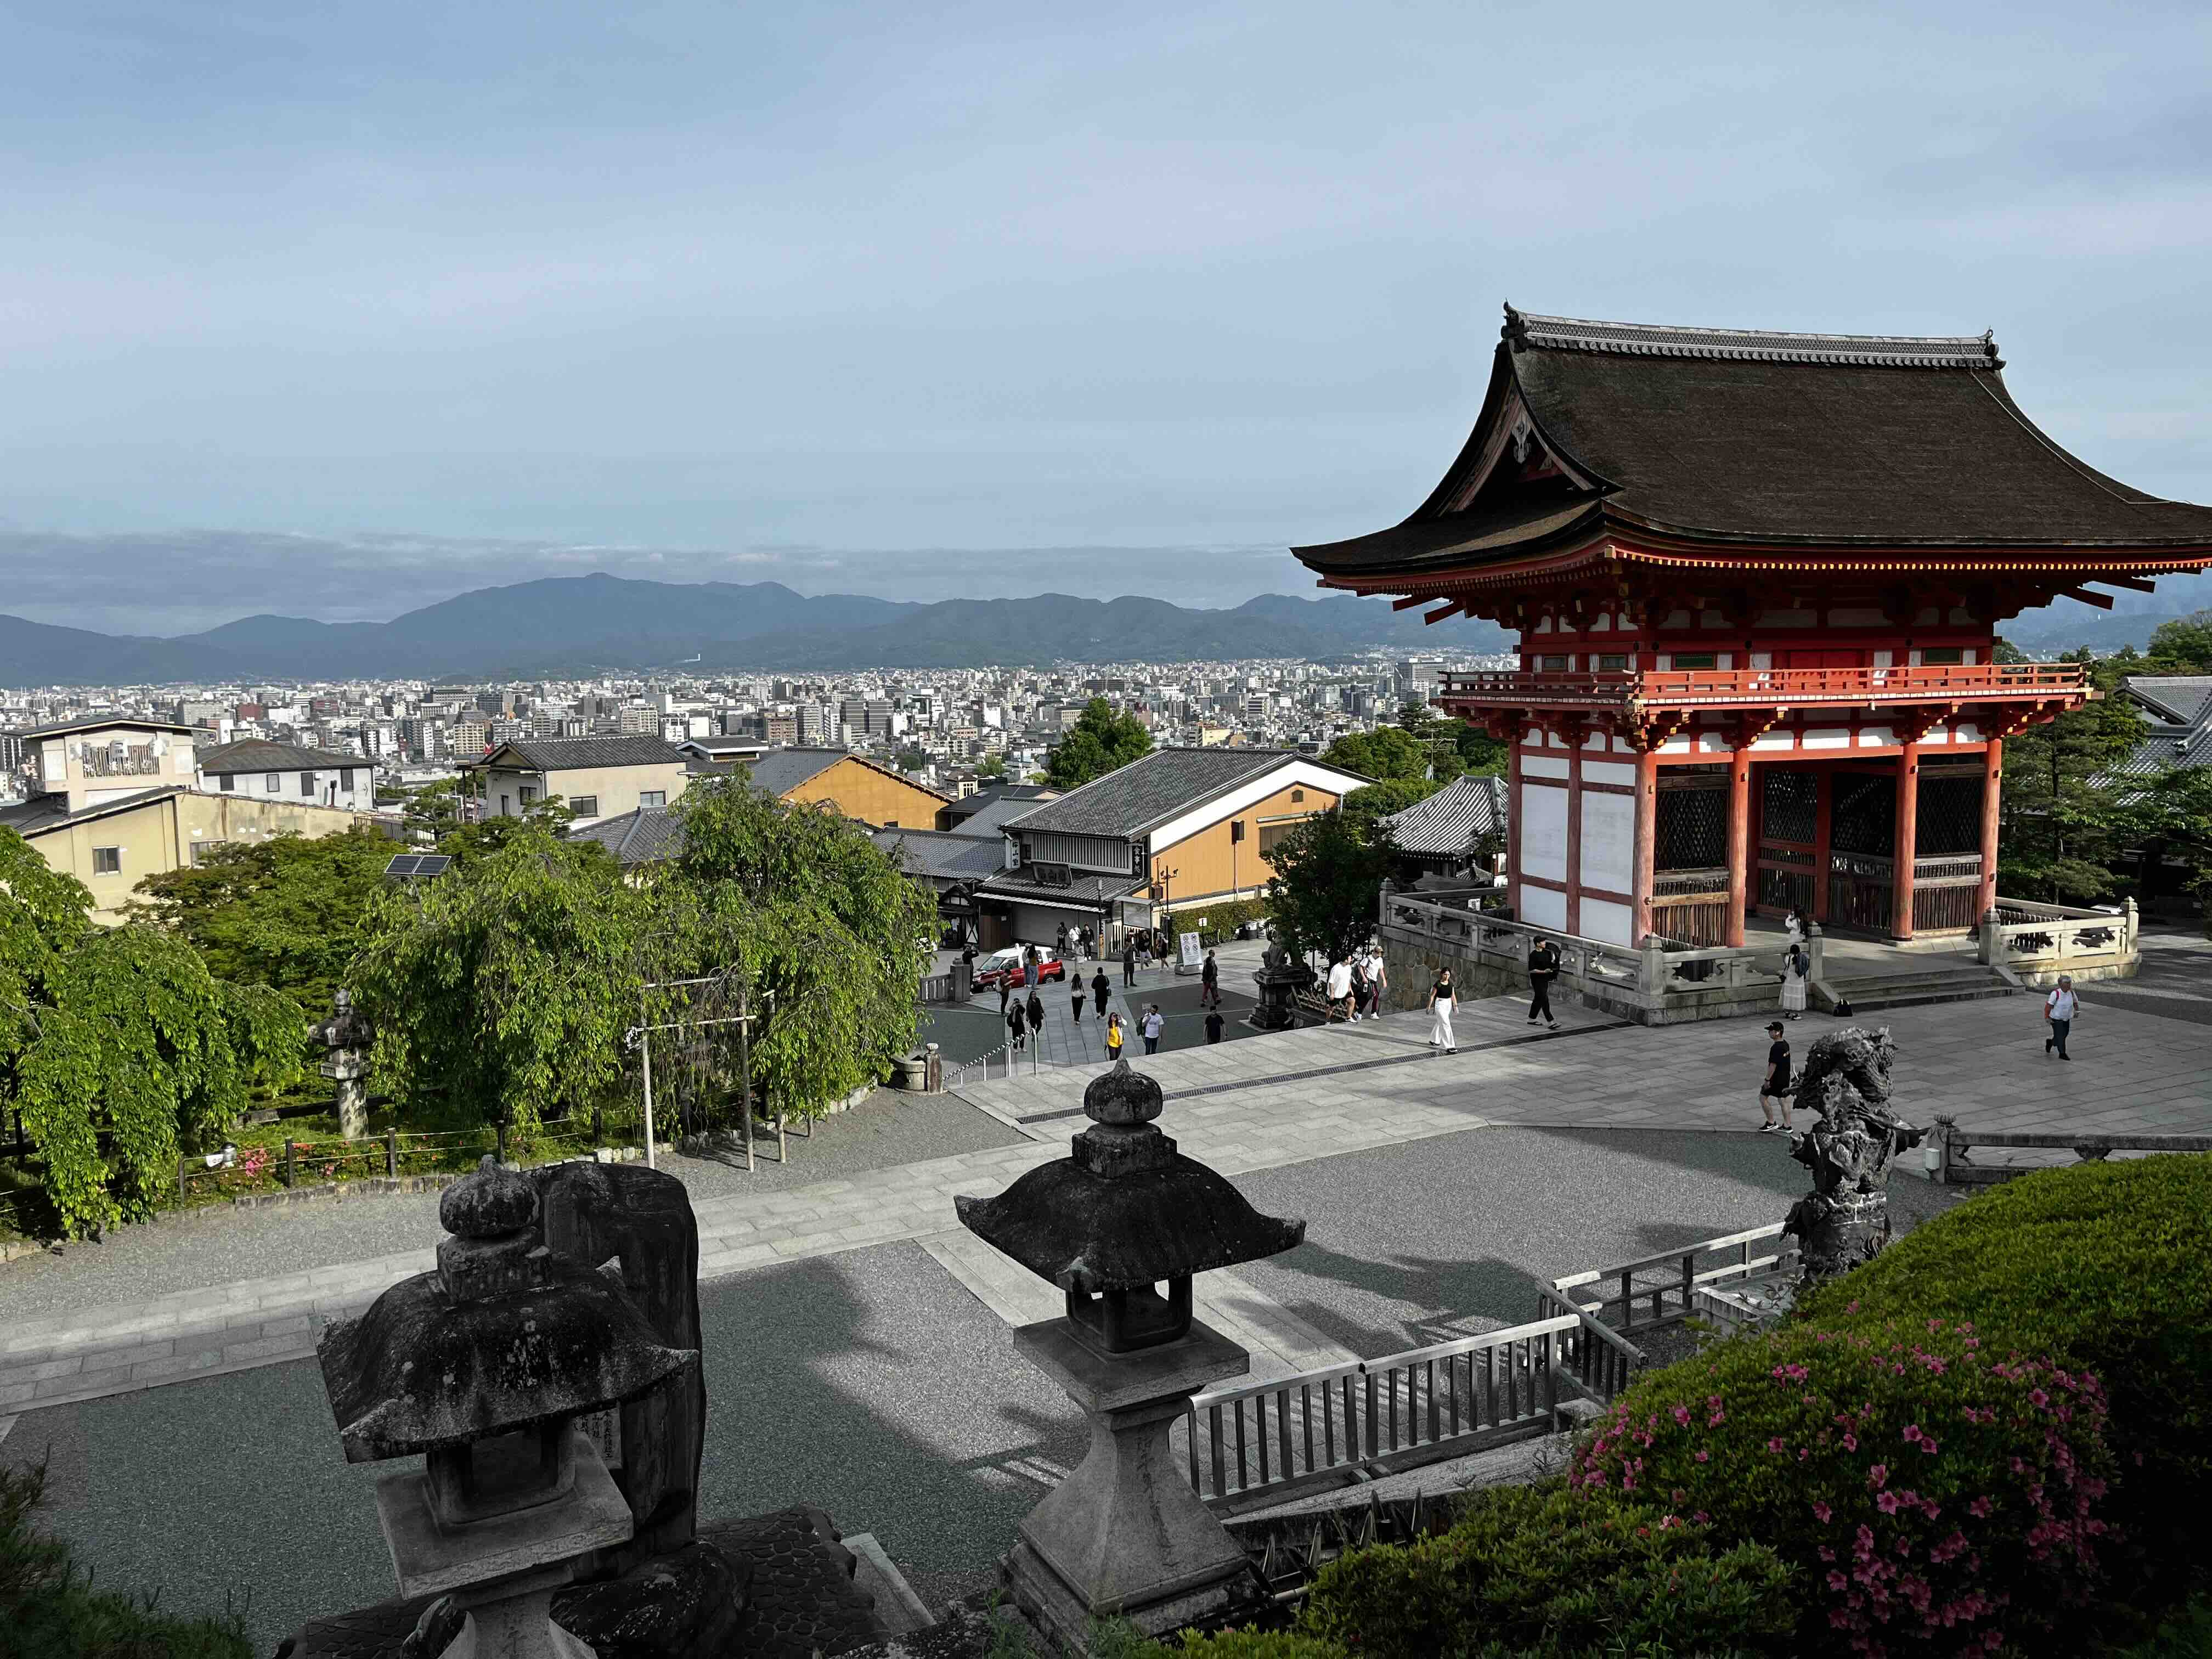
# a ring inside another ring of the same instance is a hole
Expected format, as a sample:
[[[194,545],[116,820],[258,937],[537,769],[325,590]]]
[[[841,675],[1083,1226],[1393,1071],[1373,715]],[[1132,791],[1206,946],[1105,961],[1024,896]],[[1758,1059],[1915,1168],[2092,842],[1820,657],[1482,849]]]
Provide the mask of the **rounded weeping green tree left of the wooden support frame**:
[[[602,847],[509,823],[438,880],[378,894],[349,969],[376,1077],[418,1121],[529,1133],[624,1077],[653,905]]]

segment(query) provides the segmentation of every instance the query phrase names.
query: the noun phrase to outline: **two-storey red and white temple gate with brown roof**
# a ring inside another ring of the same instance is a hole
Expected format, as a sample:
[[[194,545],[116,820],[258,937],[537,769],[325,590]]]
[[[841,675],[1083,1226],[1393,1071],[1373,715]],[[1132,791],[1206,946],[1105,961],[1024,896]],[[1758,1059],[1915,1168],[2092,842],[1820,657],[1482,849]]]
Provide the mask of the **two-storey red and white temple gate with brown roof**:
[[[2212,509],[2042,434],[1995,343],[1586,323],[1506,307],[1473,436],[1321,586],[1489,617],[1449,677],[1511,754],[1511,902],[1613,945],[1741,945],[1750,911],[1964,933],[1995,902],[2004,739],[2095,697],[2000,664],[2088,584],[2212,564]]]

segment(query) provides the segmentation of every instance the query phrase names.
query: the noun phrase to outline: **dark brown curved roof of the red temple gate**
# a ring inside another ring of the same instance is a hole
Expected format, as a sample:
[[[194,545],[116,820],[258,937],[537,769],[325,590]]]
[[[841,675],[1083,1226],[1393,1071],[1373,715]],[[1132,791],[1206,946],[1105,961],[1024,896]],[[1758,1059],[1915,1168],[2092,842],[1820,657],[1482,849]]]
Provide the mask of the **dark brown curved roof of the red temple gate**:
[[[1323,577],[1383,577],[1606,533],[2130,549],[2159,564],[2212,546],[2212,509],[2068,456],[2013,403],[2002,369],[1989,336],[1681,330],[1506,307],[1482,416],[1444,482],[1394,529],[1294,551]],[[1531,453],[1533,471],[1517,465]]]

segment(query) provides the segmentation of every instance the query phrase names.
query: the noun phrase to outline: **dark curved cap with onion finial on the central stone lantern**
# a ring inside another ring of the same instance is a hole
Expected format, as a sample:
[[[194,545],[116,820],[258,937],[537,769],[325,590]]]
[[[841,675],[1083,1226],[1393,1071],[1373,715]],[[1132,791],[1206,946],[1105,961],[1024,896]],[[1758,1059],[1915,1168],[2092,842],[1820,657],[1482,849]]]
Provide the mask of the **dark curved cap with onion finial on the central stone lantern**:
[[[1159,1084],[1128,1062],[1084,1091],[1093,1119],[1073,1155],[995,1199],[953,1199],[960,1225],[1071,1294],[1137,1290],[1274,1256],[1303,1221],[1254,1210],[1223,1177],[1175,1150],[1150,1119]]]

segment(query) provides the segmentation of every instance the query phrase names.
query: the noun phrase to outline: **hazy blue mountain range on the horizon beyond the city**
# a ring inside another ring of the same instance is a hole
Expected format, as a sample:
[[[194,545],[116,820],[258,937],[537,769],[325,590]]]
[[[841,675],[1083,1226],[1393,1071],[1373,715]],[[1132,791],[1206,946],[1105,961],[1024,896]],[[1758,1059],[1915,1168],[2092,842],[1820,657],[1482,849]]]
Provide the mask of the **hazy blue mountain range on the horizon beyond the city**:
[[[239,679],[491,679],[675,668],[987,668],[1048,661],[1332,657],[1347,650],[1504,650],[1491,624],[1427,628],[1380,599],[1267,593],[1234,611],[1166,599],[805,597],[781,582],[549,577],[478,588],[392,622],[241,617],[175,639],[53,628],[0,615],[0,684],[131,686]]]

